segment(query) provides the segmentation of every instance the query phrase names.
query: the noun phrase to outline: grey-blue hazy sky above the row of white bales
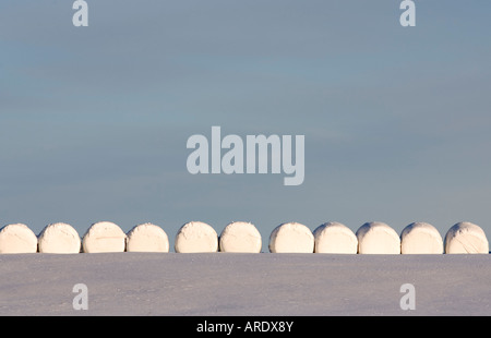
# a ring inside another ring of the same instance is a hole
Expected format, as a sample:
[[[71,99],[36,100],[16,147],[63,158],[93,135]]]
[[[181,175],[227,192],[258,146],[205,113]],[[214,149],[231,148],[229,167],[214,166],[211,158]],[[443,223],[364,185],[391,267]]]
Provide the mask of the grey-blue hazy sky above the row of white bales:
[[[0,2],[0,226],[218,234],[458,221],[491,236],[491,3]],[[194,134],[304,135],[304,181],[191,174]]]

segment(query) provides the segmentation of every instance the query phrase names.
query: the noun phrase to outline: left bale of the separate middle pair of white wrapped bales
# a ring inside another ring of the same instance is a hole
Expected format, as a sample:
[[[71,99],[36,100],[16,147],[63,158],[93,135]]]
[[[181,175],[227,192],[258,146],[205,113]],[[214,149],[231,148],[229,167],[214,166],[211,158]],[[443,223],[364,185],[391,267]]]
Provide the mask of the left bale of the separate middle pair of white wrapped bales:
[[[179,229],[173,244],[178,253],[217,252],[218,234],[205,222],[190,221]]]

